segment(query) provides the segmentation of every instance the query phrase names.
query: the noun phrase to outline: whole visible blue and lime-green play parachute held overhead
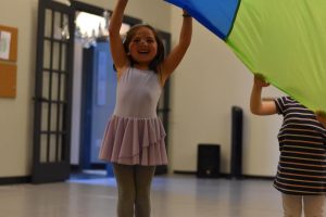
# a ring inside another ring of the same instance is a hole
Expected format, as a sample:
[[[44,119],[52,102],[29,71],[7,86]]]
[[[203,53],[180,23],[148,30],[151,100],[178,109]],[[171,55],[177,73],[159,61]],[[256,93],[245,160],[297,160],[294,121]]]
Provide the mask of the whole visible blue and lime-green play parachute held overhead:
[[[165,0],[224,40],[254,74],[326,112],[325,0]]]

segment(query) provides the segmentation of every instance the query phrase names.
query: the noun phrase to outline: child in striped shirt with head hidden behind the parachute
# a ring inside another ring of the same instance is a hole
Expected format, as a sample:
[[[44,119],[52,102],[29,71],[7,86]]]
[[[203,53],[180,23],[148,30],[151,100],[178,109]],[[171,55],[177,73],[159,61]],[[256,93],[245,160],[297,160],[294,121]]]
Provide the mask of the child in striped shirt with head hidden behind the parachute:
[[[278,133],[279,163],[274,187],[281,192],[284,216],[325,217],[326,203],[326,117],[313,113],[290,97],[262,100],[267,87],[254,77],[250,99],[255,115],[281,114]]]

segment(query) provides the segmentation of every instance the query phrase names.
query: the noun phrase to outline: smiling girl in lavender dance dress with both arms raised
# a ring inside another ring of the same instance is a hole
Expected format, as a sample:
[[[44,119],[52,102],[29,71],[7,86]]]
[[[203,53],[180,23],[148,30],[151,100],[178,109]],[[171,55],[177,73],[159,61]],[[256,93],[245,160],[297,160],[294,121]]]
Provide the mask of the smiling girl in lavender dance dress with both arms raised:
[[[118,217],[150,216],[150,186],[156,165],[166,165],[165,131],[156,116],[163,86],[191,41],[192,18],[184,11],[179,41],[165,58],[162,40],[149,25],[120,36],[128,0],[117,0],[110,21],[110,46],[117,72],[116,103],[100,158],[113,164]]]

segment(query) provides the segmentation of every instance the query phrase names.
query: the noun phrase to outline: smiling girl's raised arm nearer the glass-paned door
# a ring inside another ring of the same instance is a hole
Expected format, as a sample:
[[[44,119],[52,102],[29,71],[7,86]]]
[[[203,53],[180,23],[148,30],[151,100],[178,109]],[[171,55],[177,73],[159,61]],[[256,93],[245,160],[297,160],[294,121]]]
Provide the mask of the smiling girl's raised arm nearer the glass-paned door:
[[[122,38],[120,36],[120,29],[127,3],[128,0],[117,0],[109,25],[110,48],[113,63],[117,72],[126,66],[128,60],[127,54],[124,50]]]

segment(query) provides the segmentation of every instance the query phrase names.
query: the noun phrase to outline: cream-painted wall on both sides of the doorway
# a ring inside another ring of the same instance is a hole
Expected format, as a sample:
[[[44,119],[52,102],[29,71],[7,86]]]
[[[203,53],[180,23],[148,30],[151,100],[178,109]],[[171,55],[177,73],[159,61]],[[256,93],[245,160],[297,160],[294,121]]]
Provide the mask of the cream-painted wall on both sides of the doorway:
[[[115,1],[84,2],[113,9]],[[28,176],[32,171],[37,4],[37,0],[1,0],[0,24],[18,28],[18,69],[17,97],[0,98],[0,177]],[[173,33],[175,43],[181,21],[179,9],[161,0],[130,0],[126,12]],[[275,174],[280,119],[249,113],[252,76],[224,42],[195,22],[192,44],[172,79],[171,170],[195,171],[197,144],[218,143],[222,171],[228,173],[230,106],[239,105],[244,112],[243,173]],[[273,88],[266,93],[279,94]]]

